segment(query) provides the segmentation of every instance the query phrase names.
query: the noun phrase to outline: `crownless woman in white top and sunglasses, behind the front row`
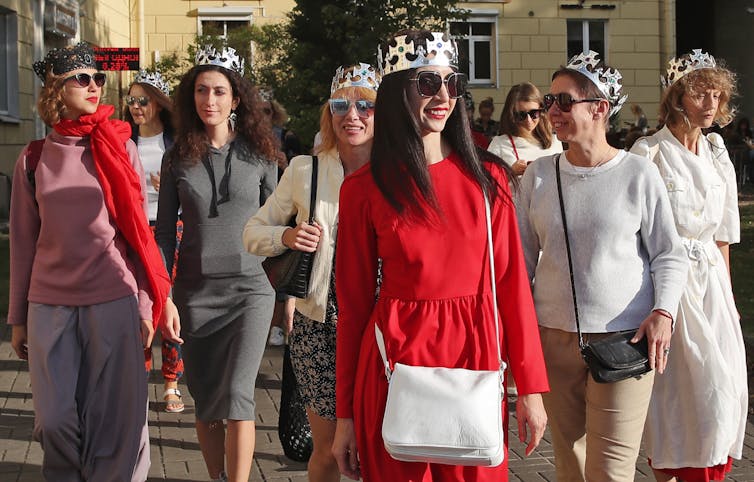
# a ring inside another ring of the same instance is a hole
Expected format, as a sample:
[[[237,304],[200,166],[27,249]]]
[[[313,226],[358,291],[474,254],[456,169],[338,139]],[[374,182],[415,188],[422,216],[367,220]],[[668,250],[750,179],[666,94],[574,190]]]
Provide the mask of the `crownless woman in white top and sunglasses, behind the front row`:
[[[542,95],[533,84],[524,82],[508,91],[500,115],[500,135],[487,150],[511,166],[517,176],[535,159],[563,151],[560,141],[553,139]]]

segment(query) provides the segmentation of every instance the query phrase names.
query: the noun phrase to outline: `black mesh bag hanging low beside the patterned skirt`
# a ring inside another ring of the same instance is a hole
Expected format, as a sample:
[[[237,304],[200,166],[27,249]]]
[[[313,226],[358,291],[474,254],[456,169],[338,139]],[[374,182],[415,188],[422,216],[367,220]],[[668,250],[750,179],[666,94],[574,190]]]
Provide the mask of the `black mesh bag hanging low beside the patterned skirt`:
[[[285,456],[296,462],[307,462],[312,454],[312,430],[306,417],[306,407],[301,399],[293,373],[291,352],[285,345],[283,355],[283,383],[280,393],[280,419],[278,437]]]

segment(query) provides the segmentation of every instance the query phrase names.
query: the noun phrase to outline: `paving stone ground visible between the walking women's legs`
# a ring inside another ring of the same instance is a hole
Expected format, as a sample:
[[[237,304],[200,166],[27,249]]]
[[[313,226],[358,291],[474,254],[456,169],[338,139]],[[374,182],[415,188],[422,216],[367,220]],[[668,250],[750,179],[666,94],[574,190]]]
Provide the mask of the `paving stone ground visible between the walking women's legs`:
[[[0,482],[40,482],[42,450],[32,442],[34,411],[26,362],[18,360],[10,346],[11,330],[0,320]],[[256,384],[257,447],[251,481],[306,482],[306,466],[284,455],[277,437],[282,348],[268,347]],[[181,386],[186,410],[169,414],[163,410],[159,346],[154,347],[156,369],[149,383],[149,433],[152,467],[149,482],[209,480],[194,431],[193,401]],[[743,459],[736,461],[728,481],[754,482],[754,424],[749,417]],[[517,439],[515,413],[510,420],[509,480],[512,482],[555,481],[553,450],[549,434],[537,451],[523,457]],[[341,481],[345,482],[345,477]],[[635,480],[654,480],[642,454]]]

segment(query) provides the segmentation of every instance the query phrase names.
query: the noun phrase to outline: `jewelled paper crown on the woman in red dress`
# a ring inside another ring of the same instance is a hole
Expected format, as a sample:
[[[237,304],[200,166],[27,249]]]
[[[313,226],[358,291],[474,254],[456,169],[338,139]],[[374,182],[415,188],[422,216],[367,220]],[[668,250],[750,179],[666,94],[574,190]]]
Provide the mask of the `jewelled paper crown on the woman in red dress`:
[[[435,65],[458,67],[456,42],[444,32],[431,32],[432,38],[407,39],[399,35],[388,41],[387,52],[377,46],[377,63],[384,77],[401,70]]]

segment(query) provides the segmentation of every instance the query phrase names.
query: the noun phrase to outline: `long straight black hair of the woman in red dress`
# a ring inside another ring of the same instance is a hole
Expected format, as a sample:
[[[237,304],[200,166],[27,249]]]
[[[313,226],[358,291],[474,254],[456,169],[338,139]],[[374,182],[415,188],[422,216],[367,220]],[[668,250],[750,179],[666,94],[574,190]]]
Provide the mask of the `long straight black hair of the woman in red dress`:
[[[416,38],[427,38],[426,31],[411,32]],[[431,34],[429,38],[432,38]],[[439,206],[424,156],[421,131],[411,114],[407,96],[407,89],[413,87],[408,79],[413,78],[415,72],[414,69],[398,71],[382,79],[375,103],[370,165],[377,187],[396,211],[411,218],[427,219],[428,214],[422,206],[428,204],[435,212],[439,212]],[[500,158],[474,145],[462,101],[456,102],[442,138],[458,154],[466,174],[489,193],[491,201],[499,194],[500,186],[482,165],[483,161],[500,165],[509,179],[515,179]]]

